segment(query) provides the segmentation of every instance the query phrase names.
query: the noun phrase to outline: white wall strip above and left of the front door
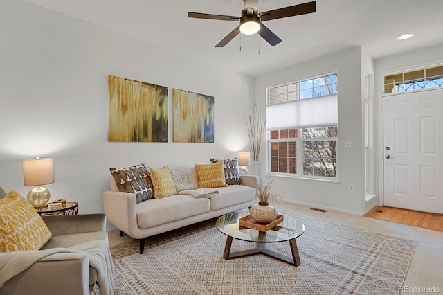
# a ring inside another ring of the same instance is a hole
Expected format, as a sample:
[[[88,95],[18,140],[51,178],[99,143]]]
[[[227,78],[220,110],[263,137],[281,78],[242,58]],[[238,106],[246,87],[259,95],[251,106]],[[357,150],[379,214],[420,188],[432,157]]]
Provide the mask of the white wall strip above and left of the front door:
[[[398,55],[392,55],[375,61],[375,104],[374,128],[377,162],[374,171],[376,173],[376,191],[379,195],[379,205],[383,204],[383,75],[396,73],[408,69],[416,69],[435,64],[443,64],[443,44],[422,48]]]

